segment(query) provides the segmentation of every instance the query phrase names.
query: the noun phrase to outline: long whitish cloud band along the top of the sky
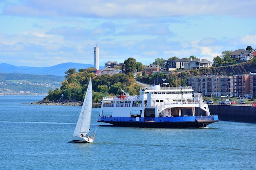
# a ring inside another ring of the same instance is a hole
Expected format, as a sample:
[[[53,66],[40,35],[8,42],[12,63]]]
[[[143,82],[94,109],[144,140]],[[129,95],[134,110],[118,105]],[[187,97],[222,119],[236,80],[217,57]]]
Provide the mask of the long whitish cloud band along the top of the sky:
[[[249,4],[249,5],[248,5]],[[25,0],[8,5],[9,15],[30,16],[99,16],[99,17],[166,17],[177,15],[254,16],[256,2],[252,0]],[[246,9],[246,12],[241,9]]]

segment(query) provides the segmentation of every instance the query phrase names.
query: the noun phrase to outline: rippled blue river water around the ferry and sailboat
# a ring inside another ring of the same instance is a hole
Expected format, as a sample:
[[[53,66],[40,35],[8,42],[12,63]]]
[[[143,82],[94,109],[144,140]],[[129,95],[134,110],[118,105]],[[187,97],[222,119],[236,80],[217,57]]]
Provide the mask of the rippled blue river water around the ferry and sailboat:
[[[28,105],[45,96],[0,96],[0,169],[256,169],[256,124],[201,129],[106,126],[92,110],[91,144],[68,143],[81,107]]]

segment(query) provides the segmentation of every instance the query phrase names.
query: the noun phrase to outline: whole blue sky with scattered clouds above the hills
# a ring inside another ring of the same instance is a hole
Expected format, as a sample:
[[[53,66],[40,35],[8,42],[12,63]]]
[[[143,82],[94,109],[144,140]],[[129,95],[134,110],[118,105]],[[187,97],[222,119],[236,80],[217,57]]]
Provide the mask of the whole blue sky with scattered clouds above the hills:
[[[0,0],[0,63],[213,61],[256,48],[255,0]]]

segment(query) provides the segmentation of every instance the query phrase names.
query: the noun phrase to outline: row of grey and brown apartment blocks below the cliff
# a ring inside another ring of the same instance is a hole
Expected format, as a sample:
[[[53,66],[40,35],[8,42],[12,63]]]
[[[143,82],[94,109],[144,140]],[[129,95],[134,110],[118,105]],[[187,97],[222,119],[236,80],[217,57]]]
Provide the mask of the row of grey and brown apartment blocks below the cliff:
[[[187,85],[204,96],[256,97],[256,73],[234,76],[190,76]]]

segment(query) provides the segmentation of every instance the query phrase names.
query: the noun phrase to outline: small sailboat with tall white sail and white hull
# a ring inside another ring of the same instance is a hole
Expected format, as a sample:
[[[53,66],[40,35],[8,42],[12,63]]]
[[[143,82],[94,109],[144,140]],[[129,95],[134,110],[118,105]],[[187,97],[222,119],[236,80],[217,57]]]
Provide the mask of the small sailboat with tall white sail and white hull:
[[[92,116],[92,78],[90,78],[90,81],[88,84],[85,98],[83,100],[83,106],[80,111],[80,115],[77,120],[76,128],[72,135],[71,142],[92,143],[94,141],[94,137],[92,139],[91,135],[89,136],[91,116]]]

